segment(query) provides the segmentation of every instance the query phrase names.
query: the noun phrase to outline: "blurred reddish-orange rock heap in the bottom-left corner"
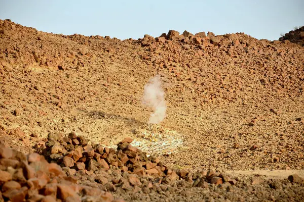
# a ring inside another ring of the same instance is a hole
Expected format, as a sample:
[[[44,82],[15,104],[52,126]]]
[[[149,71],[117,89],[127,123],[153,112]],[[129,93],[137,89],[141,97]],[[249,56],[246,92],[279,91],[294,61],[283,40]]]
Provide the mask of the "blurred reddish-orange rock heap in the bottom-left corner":
[[[0,201],[122,201],[109,192],[76,184],[39,154],[24,155],[0,145]]]

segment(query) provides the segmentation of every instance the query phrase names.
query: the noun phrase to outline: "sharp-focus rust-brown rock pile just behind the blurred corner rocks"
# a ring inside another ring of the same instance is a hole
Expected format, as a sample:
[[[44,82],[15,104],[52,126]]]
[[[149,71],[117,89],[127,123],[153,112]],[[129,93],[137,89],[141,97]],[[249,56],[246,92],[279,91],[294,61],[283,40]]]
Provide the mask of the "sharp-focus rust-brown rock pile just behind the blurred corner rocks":
[[[44,155],[56,162],[67,176],[76,176],[82,183],[99,187],[102,190],[115,191],[140,190],[172,185],[176,181],[186,181],[194,187],[208,187],[212,184],[232,184],[237,180],[215,171],[188,172],[186,169],[170,169],[154,156],[131,145],[127,137],[118,143],[117,149],[89,144],[82,136],[74,132],[63,137],[61,133],[48,135]]]

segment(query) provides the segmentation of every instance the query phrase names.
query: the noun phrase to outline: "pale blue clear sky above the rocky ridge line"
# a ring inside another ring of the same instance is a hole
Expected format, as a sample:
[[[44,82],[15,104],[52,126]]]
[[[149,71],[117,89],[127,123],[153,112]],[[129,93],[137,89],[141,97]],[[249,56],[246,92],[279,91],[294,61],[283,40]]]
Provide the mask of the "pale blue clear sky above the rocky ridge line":
[[[303,0],[78,1],[0,0],[0,19],[57,34],[119,39],[154,37],[169,30],[244,32],[276,40],[304,25]]]

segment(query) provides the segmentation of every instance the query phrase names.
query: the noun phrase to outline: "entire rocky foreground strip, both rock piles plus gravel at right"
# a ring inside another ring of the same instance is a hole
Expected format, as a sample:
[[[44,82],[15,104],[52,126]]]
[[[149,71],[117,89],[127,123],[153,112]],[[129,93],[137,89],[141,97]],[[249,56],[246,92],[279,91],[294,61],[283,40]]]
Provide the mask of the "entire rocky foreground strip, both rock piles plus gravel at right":
[[[176,170],[156,157],[147,157],[131,142],[131,138],[125,138],[117,149],[112,149],[88,144],[87,139],[74,132],[65,137],[53,133],[48,135],[46,148],[42,148],[44,156],[24,155],[1,144],[0,199],[12,202],[304,199],[304,180],[296,174],[286,180],[265,181],[259,177],[234,179],[215,170]]]

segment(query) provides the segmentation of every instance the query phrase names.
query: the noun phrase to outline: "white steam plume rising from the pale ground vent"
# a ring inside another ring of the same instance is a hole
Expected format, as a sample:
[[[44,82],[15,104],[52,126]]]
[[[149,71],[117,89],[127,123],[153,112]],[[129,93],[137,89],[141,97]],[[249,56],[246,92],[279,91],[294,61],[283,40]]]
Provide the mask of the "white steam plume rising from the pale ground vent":
[[[160,75],[151,78],[143,90],[143,104],[154,110],[154,113],[150,115],[148,123],[161,123],[166,117],[167,106]]]

